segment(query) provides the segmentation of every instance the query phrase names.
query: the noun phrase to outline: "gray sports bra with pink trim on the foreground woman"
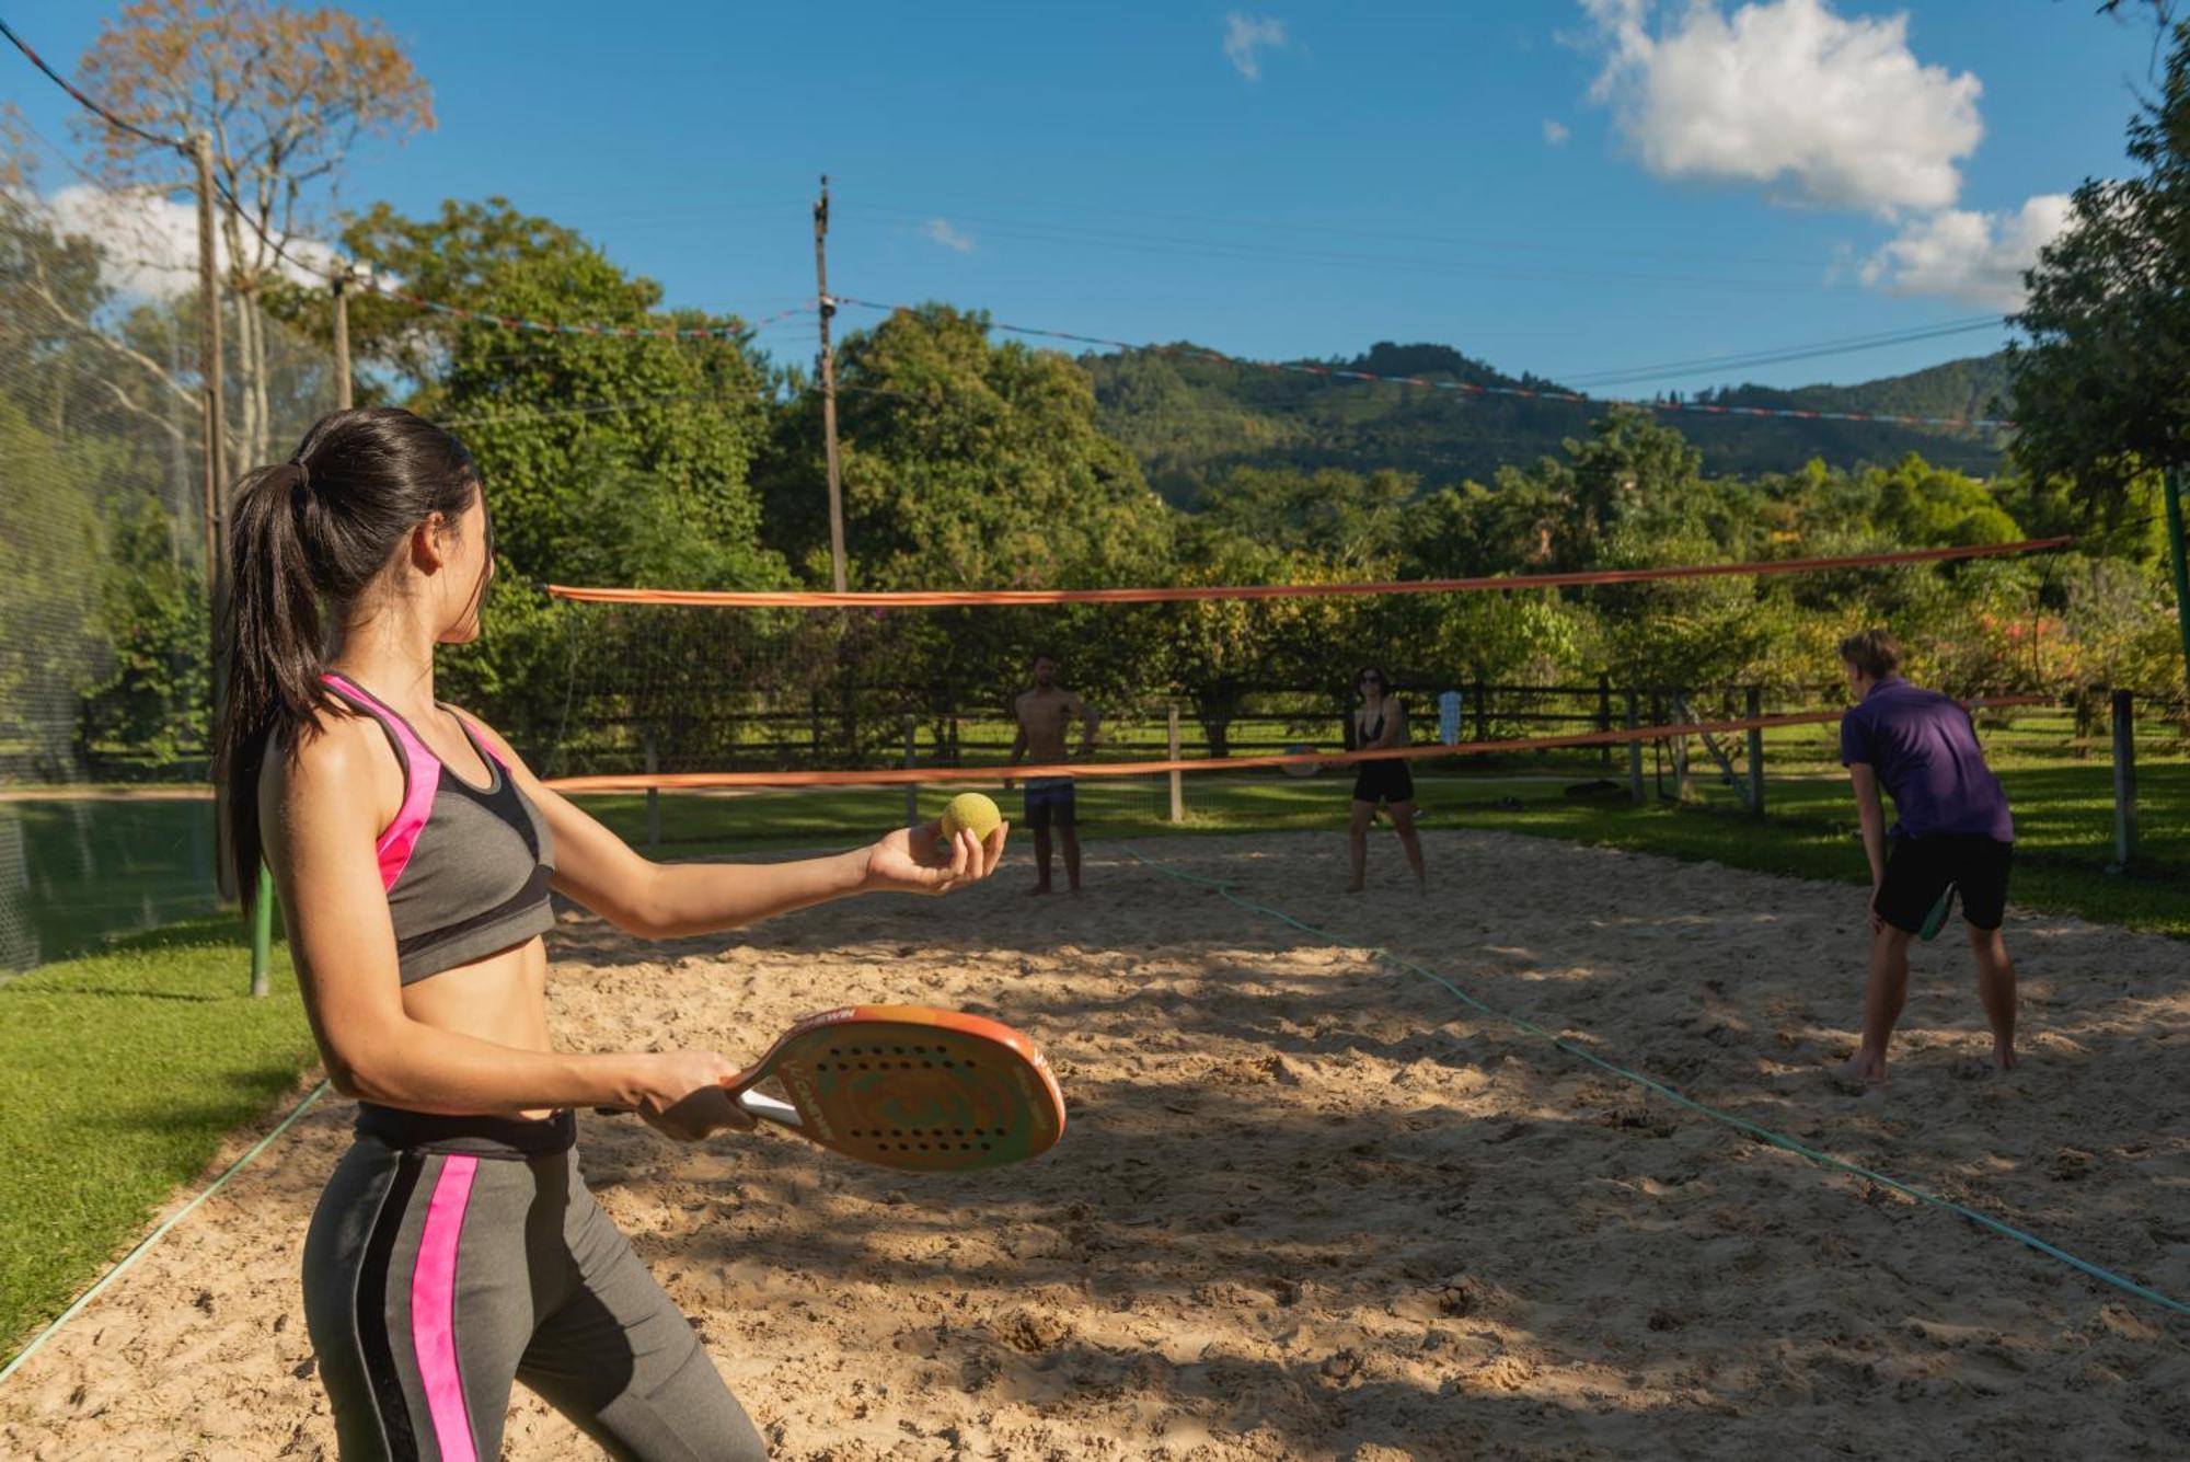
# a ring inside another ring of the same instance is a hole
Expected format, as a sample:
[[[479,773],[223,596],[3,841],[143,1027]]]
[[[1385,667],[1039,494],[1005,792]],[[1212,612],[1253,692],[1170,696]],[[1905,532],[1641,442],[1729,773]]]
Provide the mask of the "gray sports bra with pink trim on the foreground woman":
[[[381,889],[405,985],[523,943],[554,924],[554,840],[510,770],[464,724],[486,766],[475,788],[436,757],[401,713],[339,674],[331,692],[388,733],[403,764],[403,808],[381,832]]]

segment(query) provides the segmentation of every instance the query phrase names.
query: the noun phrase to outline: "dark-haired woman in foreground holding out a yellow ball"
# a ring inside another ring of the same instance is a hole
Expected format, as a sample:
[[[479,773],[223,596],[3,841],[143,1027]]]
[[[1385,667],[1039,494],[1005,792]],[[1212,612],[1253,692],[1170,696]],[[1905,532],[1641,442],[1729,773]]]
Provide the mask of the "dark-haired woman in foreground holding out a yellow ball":
[[[942,893],[1003,851],[894,832],[837,858],[653,865],[434,698],[493,576],[471,453],[394,409],[322,418],[232,508],[221,797],[265,856],[357,1138],[304,1241],[342,1458],[495,1458],[521,1379],[615,1458],[764,1447],[578,1171],[585,1105],[681,1140],[751,1121],[714,1051],[556,1051],[548,895],[633,935],[723,930],[867,891]]]

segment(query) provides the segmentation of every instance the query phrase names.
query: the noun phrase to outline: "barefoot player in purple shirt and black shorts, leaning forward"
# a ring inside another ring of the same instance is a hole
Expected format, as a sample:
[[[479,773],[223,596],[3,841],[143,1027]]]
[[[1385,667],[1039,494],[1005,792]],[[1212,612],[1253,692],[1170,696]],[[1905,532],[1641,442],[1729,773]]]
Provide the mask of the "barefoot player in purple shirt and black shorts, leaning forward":
[[[1864,1044],[1842,1068],[1886,1079],[1886,1042],[1910,989],[1910,939],[1949,889],[1962,895],[1978,998],[1993,1026],[1993,1064],[2015,1068],[2015,963],[1999,921],[2008,906],[2015,819],[1999,777],[1984,764],[1969,711],[1901,678],[1901,646],[1886,630],[1840,641],[1855,709],[1840,718],[1840,759],[1855,779],[1855,810],[1870,858],[1870,985]],[[1886,827],[1879,790],[1899,821]]]

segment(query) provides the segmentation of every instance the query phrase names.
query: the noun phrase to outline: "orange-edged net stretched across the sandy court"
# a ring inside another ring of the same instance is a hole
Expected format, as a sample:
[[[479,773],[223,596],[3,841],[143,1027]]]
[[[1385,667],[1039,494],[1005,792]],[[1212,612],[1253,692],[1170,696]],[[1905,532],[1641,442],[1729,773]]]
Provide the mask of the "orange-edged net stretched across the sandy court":
[[[1432,810],[1575,786],[1750,801],[1767,749],[1789,770],[1837,764],[1829,663],[1780,687],[1487,676],[1469,663],[1485,617],[1680,580],[1745,593],[1726,580],[1951,573],[2065,545],[1406,582],[843,595],[550,587],[567,602],[569,676],[539,707],[532,740],[550,749],[552,786],[607,799],[648,843],[716,843],[725,827],[828,840],[1025,777],[1073,777],[1084,823],[1307,825],[1342,812],[1358,764],[1386,759],[1410,766]],[[1636,600],[1636,613],[1649,604]],[[1036,652],[1097,713],[1088,755],[1073,727],[1069,759],[1012,764],[1014,700]],[[1353,744],[1362,663],[1391,674],[1408,744]],[[1991,718],[2045,700],[2028,685],[1949,689]],[[699,801],[718,797],[769,801],[736,816]]]

